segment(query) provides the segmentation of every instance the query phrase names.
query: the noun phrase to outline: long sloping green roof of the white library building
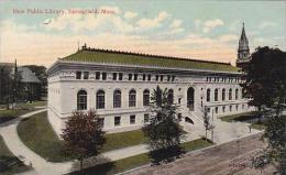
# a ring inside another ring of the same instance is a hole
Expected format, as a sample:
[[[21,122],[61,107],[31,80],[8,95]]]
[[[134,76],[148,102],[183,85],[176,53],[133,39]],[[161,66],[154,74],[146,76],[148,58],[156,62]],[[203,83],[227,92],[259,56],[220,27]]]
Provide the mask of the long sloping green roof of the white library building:
[[[227,63],[196,61],[188,58],[147,55],[107,50],[82,48],[75,54],[61,58],[68,62],[113,63],[123,65],[158,66],[168,68],[207,69],[238,72],[239,68]]]

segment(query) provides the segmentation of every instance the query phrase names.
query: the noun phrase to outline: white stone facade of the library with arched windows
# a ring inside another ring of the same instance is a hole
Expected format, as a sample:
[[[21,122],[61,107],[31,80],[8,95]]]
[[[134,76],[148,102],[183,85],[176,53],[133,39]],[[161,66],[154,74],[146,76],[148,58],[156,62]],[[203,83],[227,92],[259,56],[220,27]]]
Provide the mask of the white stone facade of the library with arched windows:
[[[201,122],[205,106],[208,108],[209,113],[215,117],[251,110],[248,107],[248,99],[242,98],[242,90],[239,85],[241,83],[240,73],[132,67],[116,64],[87,64],[63,61],[57,61],[56,64],[59,66],[51,72],[48,76],[48,119],[57,133],[61,133],[61,130],[64,128],[64,121],[68,116],[78,109],[77,95],[80,90],[86,91],[87,101],[85,110],[95,109],[103,118],[105,129],[108,131],[118,128],[143,125],[144,114],[148,113],[147,107],[143,106],[143,92],[147,89],[151,94],[156,86],[172,89],[174,91],[174,103],[179,106],[179,116],[182,116],[183,120],[188,117],[195,123]],[[85,72],[88,73],[86,79],[84,78]],[[79,73],[81,75],[77,77]],[[122,74],[122,80],[119,80],[119,73]],[[97,79],[96,74],[100,74],[99,79]],[[103,74],[107,74],[106,79],[102,79]],[[116,74],[117,78],[113,79]],[[132,75],[131,80],[130,75]],[[150,75],[151,79],[148,80]],[[143,76],[145,80],[143,80]],[[194,100],[191,99],[191,88],[194,90]],[[210,97],[207,99],[208,89]],[[215,95],[216,89],[217,95]],[[224,100],[222,100],[223,89],[226,90]],[[231,98],[229,97],[230,89]],[[97,109],[97,92],[99,90],[105,91],[103,109]],[[114,108],[113,98],[116,90],[121,91],[120,108]],[[130,107],[129,105],[131,90],[135,90],[135,107]],[[190,109],[193,105],[188,107],[188,101],[194,101],[194,109]],[[135,121],[131,121],[133,120],[131,116],[135,116]],[[116,117],[120,117],[120,124],[117,123],[118,125],[116,125]]]

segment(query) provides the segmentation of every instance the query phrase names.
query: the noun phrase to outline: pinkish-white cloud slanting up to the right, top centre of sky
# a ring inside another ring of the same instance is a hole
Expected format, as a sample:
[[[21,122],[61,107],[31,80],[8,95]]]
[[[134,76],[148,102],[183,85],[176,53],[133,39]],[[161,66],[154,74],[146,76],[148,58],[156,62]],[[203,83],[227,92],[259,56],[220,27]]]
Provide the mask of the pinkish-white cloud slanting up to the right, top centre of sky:
[[[162,22],[166,20],[169,17],[169,14],[166,11],[162,11],[158,13],[158,15],[154,19],[141,19],[138,21],[138,25],[142,29],[152,29],[152,28],[158,28],[162,25]]]

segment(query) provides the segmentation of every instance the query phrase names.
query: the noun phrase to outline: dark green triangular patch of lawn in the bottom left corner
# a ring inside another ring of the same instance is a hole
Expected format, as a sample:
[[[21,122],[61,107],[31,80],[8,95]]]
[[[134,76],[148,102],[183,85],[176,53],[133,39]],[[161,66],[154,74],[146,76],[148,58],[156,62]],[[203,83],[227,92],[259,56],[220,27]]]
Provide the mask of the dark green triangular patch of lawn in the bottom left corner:
[[[0,136],[0,174],[12,175],[29,169],[31,169],[31,167],[18,160],[18,157],[8,150],[2,136]]]

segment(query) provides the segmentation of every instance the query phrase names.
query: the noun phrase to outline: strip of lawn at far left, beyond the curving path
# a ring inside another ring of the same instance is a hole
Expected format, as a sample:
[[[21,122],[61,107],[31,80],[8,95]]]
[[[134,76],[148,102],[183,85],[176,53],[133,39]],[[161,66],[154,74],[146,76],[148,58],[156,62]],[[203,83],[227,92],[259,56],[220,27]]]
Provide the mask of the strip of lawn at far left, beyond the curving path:
[[[21,114],[36,110],[36,106],[45,106],[46,101],[34,101],[33,103],[18,103],[13,110],[0,110],[0,124],[13,120]]]

